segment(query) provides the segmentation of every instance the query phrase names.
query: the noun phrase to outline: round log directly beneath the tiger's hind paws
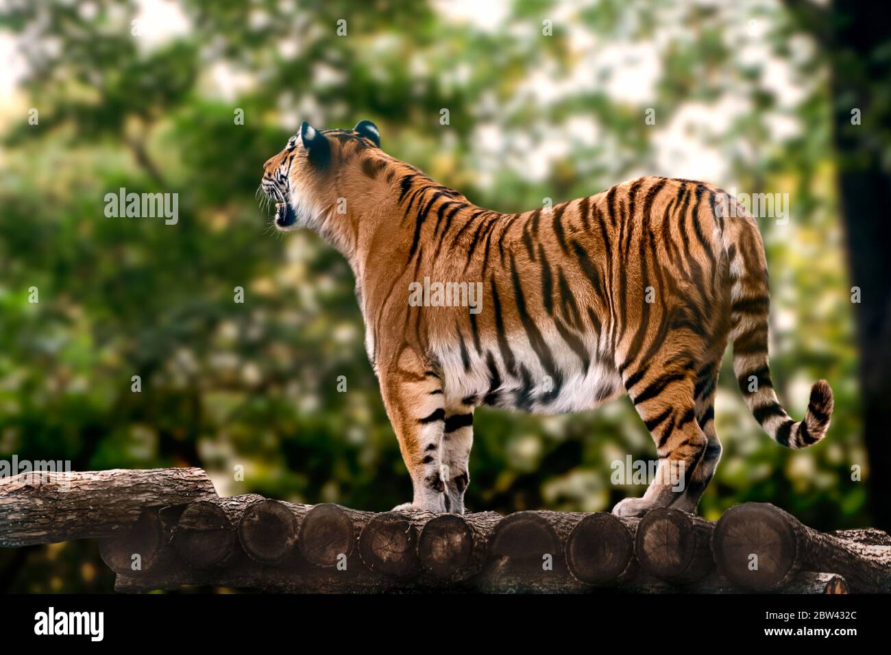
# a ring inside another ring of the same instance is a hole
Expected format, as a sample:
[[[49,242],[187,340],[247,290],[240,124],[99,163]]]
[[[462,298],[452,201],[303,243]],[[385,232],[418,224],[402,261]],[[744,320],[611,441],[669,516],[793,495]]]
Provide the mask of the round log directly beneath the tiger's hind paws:
[[[666,507],[650,510],[637,528],[637,560],[651,576],[676,584],[706,577],[715,567],[714,529],[714,523],[693,514]]]

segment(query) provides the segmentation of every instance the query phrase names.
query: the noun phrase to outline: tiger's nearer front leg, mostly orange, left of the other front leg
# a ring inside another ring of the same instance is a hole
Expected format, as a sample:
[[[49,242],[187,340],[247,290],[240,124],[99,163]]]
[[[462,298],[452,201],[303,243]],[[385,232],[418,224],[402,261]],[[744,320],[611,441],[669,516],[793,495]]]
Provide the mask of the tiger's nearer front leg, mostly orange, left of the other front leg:
[[[409,349],[396,365],[381,370],[380,392],[405,466],[412,477],[411,503],[394,510],[446,512],[446,483],[442,475],[442,438],[446,409],[441,373],[429,368]]]

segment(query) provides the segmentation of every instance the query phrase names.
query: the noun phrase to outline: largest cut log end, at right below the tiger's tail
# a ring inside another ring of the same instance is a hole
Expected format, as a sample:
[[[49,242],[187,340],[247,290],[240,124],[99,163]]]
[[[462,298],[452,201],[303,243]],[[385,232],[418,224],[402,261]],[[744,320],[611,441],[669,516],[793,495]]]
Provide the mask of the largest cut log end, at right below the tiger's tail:
[[[743,589],[781,585],[797,569],[794,530],[770,504],[747,503],[724,512],[712,550],[718,569]]]

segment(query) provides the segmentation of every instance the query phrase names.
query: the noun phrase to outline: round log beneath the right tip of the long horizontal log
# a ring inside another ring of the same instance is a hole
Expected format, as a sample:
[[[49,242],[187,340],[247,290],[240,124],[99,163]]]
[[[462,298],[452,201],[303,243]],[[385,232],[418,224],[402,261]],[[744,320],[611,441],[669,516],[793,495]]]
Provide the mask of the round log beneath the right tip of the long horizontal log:
[[[245,494],[190,504],[176,524],[176,552],[198,569],[224,566],[235,560],[243,553],[236,526],[244,511],[260,500],[261,495]]]

